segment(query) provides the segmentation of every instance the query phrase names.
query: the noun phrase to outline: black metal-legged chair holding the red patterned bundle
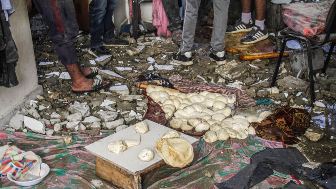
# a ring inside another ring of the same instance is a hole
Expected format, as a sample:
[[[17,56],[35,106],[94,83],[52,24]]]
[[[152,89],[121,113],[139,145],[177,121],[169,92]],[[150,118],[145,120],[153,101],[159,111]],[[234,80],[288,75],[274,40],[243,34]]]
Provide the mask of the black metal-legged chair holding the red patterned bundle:
[[[322,73],[325,73],[326,69],[327,69],[327,66],[328,66],[328,62],[330,60],[331,53],[333,52],[333,49],[334,49],[334,46],[335,46],[335,43],[336,43],[336,34],[335,34],[336,33],[336,18],[335,18],[336,17],[336,7],[335,7],[335,4],[336,4],[336,0],[333,2],[333,4],[331,5],[331,7],[329,9],[327,19],[326,19],[325,33],[324,34],[320,34],[317,37],[314,37],[312,39],[308,39],[308,38],[302,36],[301,34],[290,30],[289,28],[286,28],[283,31],[281,31],[281,34],[285,35],[285,37],[284,37],[283,44],[281,46],[278,62],[277,62],[276,68],[274,70],[274,75],[273,75],[270,87],[273,87],[275,85],[276,80],[277,80],[282,55],[284,54],[284,50],[285,50],[285,46],[286,46],[287,41],[290,40],[291,38],[294,38],[294,39],[299,40],[299,41],[304,41],[307,45],[311,107],[313,107],[313,103],[315,102],[315,90],[314,90],[314,80],[313,80],[311,44],[316,45],[316,46],[321,46],[321,45],[324,45],[328,42],[332,42],[331,46],[330,46],[330,49],[329,49],[329,52],[328,52],[328,55],[327,55],[327,59],[324,63],[323,70],[322,70]]]

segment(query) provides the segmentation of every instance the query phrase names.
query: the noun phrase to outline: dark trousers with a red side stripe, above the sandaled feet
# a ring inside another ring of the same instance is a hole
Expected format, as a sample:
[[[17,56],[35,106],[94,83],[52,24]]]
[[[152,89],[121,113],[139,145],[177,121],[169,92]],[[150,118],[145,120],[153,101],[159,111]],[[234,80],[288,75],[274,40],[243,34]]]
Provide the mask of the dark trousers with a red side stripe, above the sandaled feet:
[[[74,3],[71,0],[33,0],[49,26],[56,53],[63,65],[78,61],[74,40],[78,35]]]

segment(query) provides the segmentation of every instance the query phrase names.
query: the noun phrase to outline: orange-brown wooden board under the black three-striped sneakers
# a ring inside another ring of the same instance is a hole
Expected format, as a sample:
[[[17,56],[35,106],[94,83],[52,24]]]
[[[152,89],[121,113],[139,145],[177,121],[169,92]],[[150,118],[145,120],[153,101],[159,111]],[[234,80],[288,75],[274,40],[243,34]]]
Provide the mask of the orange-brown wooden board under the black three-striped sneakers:
[[[225,50],[239,54],[241,60],[253,60],[262,58],[279,57],[279,51],[268,39],[254,44],[242,44],[240,40],[246,36],[247,32],[225,35]],[[285,51],[283,56],[288,56],[289,51]]]

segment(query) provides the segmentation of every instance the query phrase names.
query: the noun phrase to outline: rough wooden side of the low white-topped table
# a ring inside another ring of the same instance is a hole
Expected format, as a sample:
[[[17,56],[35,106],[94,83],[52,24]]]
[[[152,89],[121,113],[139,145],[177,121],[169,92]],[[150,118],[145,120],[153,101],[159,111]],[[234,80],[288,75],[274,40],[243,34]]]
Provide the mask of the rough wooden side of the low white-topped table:
[[[140,175],[133,175],[106,159],[96,157],[96,176],[125,189],[141,189]]]

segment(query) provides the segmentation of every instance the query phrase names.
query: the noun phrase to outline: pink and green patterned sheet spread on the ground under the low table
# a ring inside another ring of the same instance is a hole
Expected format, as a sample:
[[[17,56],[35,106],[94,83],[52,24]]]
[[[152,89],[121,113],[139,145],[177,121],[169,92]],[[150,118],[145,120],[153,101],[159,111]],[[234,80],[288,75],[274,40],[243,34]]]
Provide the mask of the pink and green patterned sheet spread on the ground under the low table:
[[[50,167],[50,173],[38,185],[23,188],[113,188],[95,176],[95,156],[83,147],[111,135],[114,130],[101,130],[101,135],[86,136],[88,131],[74,132],[73,143],[65,145],[62,136],[46,136],[35,133],[0,131],[2,144],[11,142],[22,150],[33,151]],[[203,139],[194,146],[195,158],[190,166],[172,168],[165,165],[142,178],[142,188],[215,188],[214,183],[228,180],[250,164],[250,157],[265,147],[282,148],[280,142],[249,136],[245,140],[229,139],[208,144]],[[204,176],[205,171],[214,173]],[[284,186],[291,179],[274,173],[256,188]],[[7,178],[1,187],[19,188]]]

